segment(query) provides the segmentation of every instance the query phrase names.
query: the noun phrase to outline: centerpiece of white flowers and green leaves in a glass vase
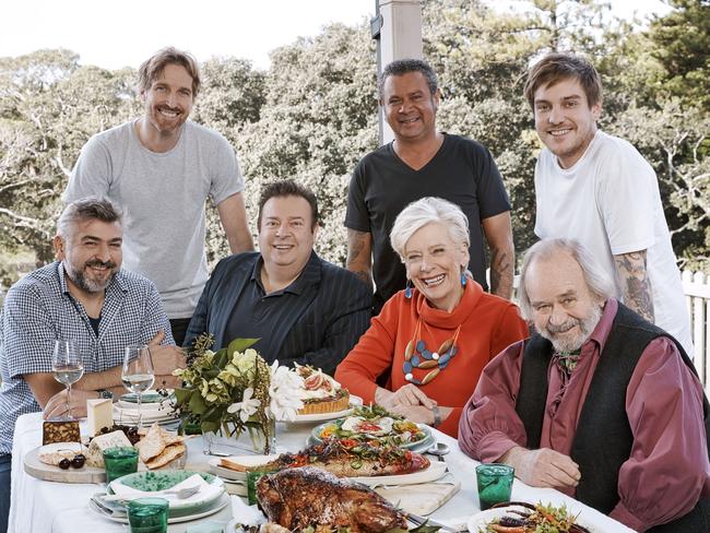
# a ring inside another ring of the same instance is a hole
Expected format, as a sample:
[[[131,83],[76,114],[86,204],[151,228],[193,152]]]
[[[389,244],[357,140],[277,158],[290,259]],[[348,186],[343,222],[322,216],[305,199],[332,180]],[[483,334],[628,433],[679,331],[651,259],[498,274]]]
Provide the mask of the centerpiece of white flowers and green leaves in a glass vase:
[[[175,390],[180,417],[200,425],[203,435],[237,439],[247,431],[259,453],[275,451],[275,422],[294,421],[300,407],[303,378],[275,360],[271,366],[251,348],[258,339],[236,339],[213,352],[212,335],[200,335],[187,368],[173,374],[182,380]]]

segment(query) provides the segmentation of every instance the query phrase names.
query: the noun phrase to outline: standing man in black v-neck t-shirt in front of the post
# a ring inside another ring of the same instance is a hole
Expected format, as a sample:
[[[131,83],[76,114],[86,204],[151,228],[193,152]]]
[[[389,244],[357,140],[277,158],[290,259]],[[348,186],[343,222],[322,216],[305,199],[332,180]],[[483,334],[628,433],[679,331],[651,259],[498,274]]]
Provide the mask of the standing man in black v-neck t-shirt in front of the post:
[[[355,167],[347,196],[347,269],[371,285],[374,312],[404,288],[404,266],[390,246],[397,215],[411,202],[439,197],[469,218],[469,270],[484,289],[484,236],[490,249],[490,289],[512,294],[514,251],[510,201],[488,150],[476,141],[436,130],[440,92],[425,61],[393,61],[382,72],[380,105],[394,141],[367,154]]]

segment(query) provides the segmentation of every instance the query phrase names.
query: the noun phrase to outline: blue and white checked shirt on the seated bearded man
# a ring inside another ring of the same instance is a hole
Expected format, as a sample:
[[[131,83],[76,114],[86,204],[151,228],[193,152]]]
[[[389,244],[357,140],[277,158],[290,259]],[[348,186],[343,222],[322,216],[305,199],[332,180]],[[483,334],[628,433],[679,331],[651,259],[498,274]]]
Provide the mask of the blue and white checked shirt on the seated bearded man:
[[[0,455],[12,452],[17,417],[40,411],[25,374],[51,372],[55,340],[73,341],[84,372],[121,365],[128,344],[147,343],[158,330],[175,344],[161,297],[147,279],[121,270],[106,288],[98,335],[70,294],[60,262],[27,274],[4,301],[0,337]]]

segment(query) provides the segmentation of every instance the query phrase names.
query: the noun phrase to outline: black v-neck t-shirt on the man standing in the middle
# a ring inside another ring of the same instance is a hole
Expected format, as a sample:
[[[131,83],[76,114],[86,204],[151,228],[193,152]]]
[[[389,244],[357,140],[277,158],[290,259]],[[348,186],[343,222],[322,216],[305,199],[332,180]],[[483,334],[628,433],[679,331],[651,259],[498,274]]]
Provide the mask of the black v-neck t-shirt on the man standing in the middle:
[[[490,152],[476,141],[445,133],[431,161],[414,170],[389,143],[367,154],[355,167],[345,215],[346,227],[372,235],[375,312],[406,283],[404,265],[390,246],[394,220],[407,204],[424,197],[443,198],[465,213],[471,233],[469,269],[487,291],[481,221],[510,211],[510,200]]]

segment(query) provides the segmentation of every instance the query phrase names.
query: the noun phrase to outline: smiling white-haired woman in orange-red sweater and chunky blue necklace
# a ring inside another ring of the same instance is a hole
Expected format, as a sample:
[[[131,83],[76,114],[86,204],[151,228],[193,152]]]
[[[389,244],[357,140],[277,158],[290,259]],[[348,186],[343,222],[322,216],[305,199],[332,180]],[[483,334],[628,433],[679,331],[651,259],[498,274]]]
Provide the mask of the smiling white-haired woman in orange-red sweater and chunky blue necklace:
[[[390,298],[335,379],[365,403],[458,434],[483,367],[528,336],[518,308],[466,276],[469,223],[453,203],[423,198],[394,221],[407,286]],[[380,376],[389,374],[387,388]]]

